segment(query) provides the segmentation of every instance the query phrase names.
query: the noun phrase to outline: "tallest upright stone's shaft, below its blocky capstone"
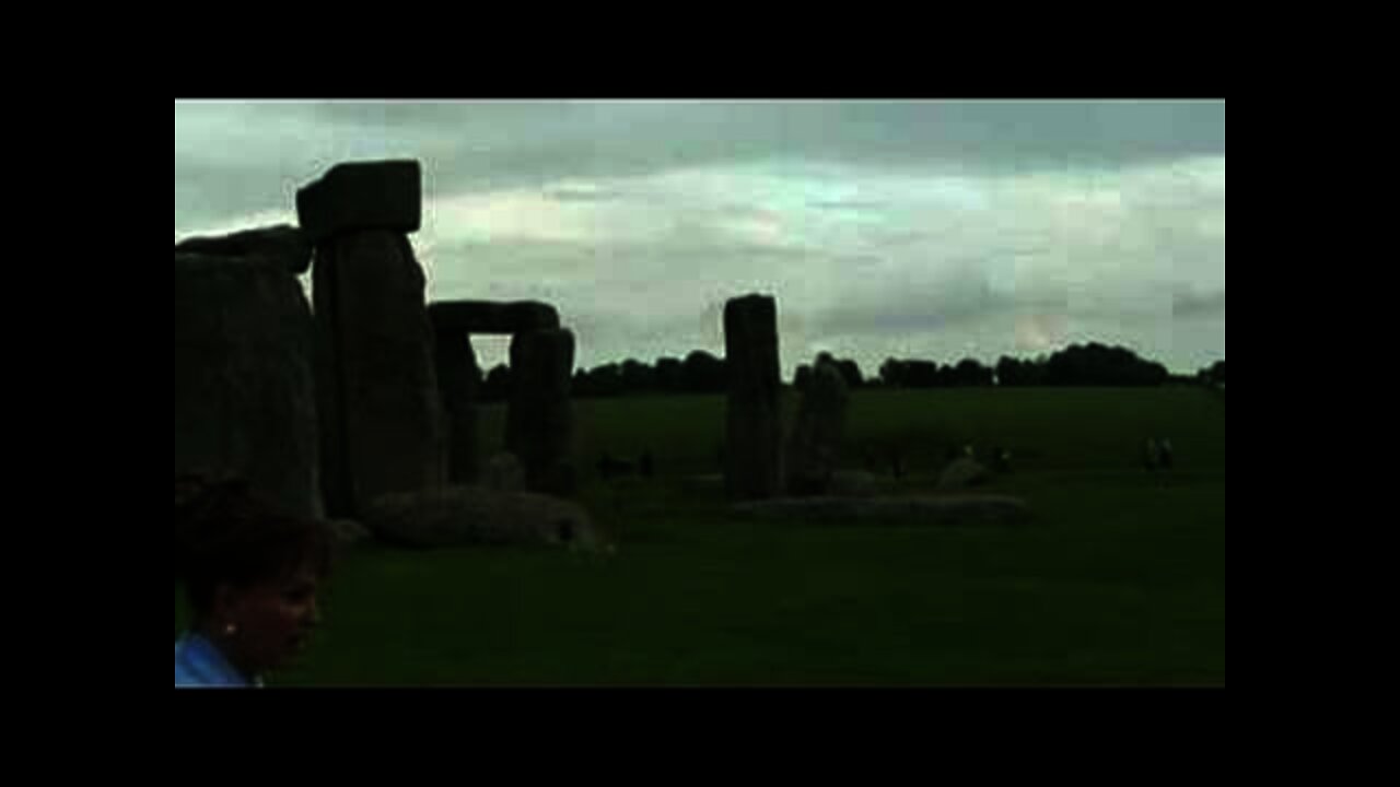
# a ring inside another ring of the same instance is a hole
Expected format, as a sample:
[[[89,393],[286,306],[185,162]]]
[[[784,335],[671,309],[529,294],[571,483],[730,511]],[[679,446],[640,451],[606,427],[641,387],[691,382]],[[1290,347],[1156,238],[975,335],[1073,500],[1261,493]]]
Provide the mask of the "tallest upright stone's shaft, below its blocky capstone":
[[[409,239],[336,237],[316,248],[312,274],[330,513],[356,518],[379,496],[441,486],[447,417]]]

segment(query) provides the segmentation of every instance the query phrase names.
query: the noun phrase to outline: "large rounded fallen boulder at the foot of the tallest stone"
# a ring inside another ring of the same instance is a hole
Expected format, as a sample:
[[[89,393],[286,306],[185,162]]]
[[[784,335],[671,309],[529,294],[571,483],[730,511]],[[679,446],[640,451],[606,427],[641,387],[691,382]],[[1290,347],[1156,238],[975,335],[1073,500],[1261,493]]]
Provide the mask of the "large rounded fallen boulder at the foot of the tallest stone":
[[[370,507],[370,529],[384,542],[416,548],[470,545],[603,546],[592,517],[568,500],[449,486],[386,494]]]

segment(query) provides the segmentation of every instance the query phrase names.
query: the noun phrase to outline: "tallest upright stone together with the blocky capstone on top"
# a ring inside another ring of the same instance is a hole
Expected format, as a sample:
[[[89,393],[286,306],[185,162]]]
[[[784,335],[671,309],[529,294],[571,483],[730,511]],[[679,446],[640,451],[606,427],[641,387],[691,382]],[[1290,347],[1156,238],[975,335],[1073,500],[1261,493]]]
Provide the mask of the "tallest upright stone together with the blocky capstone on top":
[[[406,232],[421,216],[414,161],[333,167],[297,193],[315,241],[318,392],[326,503],[354,517],[391,493],[447,480],[426,279]]]

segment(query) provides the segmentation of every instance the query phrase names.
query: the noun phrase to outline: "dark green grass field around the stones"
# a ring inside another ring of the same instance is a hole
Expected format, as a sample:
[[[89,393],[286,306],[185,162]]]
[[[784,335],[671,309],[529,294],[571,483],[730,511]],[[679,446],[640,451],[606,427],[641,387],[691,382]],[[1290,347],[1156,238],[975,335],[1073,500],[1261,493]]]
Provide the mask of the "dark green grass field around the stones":
[[[785,402],[791,419],[791,401]],[[861,391],[854,451],[927,487],[1002,444],[1023,528],[739,524],[678,479],[718,472],[724,399],[578,402],[584,500],[615,556],[365,548],[273,685],[1224,685],[1225,403],[1201,389]],[[489,409],[489,445],[503,412]],[[1138,465],[1169,437],[1177,469]],[[602,451],[661,478],[602,485]],[[858,454],[853,457],[858,466]],[[176,588],[175,627],[183,622]]]

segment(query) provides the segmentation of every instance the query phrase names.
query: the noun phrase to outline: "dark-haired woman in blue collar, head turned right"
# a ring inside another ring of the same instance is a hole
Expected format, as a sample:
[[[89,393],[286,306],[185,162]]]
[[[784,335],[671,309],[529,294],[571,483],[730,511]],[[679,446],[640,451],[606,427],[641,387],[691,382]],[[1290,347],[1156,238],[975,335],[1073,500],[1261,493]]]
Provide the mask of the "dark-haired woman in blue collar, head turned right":
[[[175,578],[193,615],[176,686],[262,686],[319,622],[330,563],[323,524],[286,517],[241,480],[175,480]]]

